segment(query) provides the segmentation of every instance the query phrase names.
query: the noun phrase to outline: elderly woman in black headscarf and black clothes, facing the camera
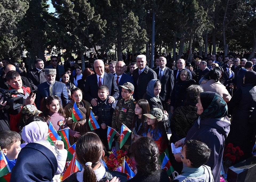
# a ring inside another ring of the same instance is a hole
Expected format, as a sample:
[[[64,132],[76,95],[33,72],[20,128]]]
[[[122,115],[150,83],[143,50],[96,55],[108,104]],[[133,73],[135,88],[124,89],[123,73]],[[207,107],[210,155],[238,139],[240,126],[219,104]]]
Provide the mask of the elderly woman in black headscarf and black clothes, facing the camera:
[[[187,95],[187,88],[190,85],[197,84],[195,80],[192,80],[189,76],[189,72],[182,69],[178,75],[178,81],[174,84],[173,91],[171,93],[171,113],[175,111],[177,107],[184,106]]]

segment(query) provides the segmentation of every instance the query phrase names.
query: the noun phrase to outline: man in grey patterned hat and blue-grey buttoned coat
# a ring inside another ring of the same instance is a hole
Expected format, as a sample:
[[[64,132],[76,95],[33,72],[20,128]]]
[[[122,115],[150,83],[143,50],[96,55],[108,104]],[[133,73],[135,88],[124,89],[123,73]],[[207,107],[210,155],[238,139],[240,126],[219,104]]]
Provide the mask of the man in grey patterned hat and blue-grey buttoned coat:
[[[45,69],[45,79],[46,81],[37,86],[37,108],[41,106],[41,99],[48,96],[58,96],[61,100],[63,108],[69,102],[69,96],[67,94],[66,85],[55,81],[56,70],[55,69]]]

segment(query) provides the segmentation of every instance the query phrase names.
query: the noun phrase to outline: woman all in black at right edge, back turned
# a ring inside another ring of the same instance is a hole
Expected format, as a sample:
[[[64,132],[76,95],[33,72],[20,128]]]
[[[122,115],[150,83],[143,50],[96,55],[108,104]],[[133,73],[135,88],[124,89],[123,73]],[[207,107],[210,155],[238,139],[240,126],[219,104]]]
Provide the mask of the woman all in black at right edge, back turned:
[[[227,142],[240,147],[244,155],[238,161],[243,161],[251,156],[251,149],[255,143],[255,123],[251,124],[249,120],[256,107],[256,72],[245,73],[244,85],[234,93],[227,105],[231,115]]]

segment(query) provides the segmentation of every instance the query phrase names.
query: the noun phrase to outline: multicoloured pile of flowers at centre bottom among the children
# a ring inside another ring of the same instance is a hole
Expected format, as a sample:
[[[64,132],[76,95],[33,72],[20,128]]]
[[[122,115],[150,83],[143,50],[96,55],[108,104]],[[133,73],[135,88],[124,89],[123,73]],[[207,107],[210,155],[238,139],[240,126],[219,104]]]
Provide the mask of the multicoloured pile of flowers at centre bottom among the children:
[[[116,150],[115,147],[112,147],[109,154],[109,157],[105,156],[103,158],[109,170],[122,172],[123,159],[125,159],[131,170],[133,170],[135,174],[137,173],[136,163],[134,160],[127,157],[127,151]]]

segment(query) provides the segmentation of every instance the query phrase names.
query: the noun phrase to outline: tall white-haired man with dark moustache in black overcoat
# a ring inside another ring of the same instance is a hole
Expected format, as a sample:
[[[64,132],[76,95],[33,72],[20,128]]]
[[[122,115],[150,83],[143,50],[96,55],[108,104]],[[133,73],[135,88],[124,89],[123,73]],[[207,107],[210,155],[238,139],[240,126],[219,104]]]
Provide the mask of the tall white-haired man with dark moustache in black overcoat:
[[[134,98],[137,101],[143,98],[147,90],[147,84],[149,84],[150,80],[157,79],[157,74],[146,65],[147,61],[145,55],[138,55],[136,62],[138,68],[133,71],[133,81],[135,84]]]

